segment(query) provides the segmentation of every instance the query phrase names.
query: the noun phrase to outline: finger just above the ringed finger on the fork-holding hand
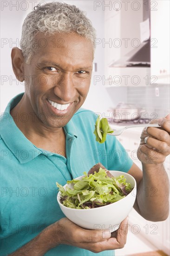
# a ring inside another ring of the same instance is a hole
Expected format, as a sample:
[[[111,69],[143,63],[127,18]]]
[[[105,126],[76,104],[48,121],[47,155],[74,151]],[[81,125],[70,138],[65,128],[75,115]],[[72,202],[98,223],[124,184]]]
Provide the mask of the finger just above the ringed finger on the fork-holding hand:
[[[159,141],[164,141],[170,146],[170,135],[168,132],[155,127],[148,127],[147,134],[156,138]]]

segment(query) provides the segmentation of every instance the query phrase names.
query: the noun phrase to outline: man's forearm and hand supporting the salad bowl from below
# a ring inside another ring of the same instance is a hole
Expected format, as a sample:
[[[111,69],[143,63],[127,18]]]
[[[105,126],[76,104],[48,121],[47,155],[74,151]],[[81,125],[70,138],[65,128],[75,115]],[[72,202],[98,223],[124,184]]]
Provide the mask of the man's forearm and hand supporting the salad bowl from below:
[[[43,256],[59,244],[72,245],[94,253],[120,249],[126,243],[127,230],[127,218],[121,222],[119,229],[112,233],[108,230],[82,229],[69,219],[62,218],[46,227],[38,236],[10,256]]]

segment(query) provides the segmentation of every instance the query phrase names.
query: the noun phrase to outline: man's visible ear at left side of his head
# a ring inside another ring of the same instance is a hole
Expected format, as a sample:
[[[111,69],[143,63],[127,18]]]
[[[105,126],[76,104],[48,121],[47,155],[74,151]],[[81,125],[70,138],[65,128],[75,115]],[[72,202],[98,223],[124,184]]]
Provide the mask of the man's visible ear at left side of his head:
[[[18,47],[14,47],[11,52],[11,59],[13,65],[13,72],[16,78],[20,81],[24,81],[24,57],[22,51]]]

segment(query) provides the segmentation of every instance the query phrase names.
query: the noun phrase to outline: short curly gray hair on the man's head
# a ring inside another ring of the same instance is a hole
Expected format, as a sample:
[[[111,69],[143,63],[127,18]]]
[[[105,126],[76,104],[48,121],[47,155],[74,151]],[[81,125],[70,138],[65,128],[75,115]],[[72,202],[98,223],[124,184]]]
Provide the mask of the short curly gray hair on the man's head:
[[[27,64],[30,63],[38,48],[34,39],[39,32],[48,35],[76,32],[91,40],[93,46],[96,38],[92,22],[86,17],[85,12],[78,7],[62,2],[39,4],[34,7],[34,11],[26,16],[22,26],[20,48]]]

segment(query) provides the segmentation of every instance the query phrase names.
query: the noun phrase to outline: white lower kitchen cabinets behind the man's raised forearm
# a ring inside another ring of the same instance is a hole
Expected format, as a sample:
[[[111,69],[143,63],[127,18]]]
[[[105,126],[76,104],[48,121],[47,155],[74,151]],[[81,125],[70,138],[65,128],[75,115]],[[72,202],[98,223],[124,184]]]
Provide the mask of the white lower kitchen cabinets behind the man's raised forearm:
[[[137,166],[142,168],[142,164],[137,160],[136,155],[142,129],[137,129],[124,131],[122,135],[118,136],[118,141],[122,143]],[[166,158],[164,168],[170,177],[170,156]],[[153,195],[155,191],[153,189]],[[148,196],[149,191],[146,189],[145,192],[146,196]],[[129,224],[133,234],[137,235],[140,233],[147,241],[154,244],[158,249],[163,250],[167,255],[170,255],[170,216],[163,222],[150,222],[140,216],[135,209],[132,209],[129,214]]]

